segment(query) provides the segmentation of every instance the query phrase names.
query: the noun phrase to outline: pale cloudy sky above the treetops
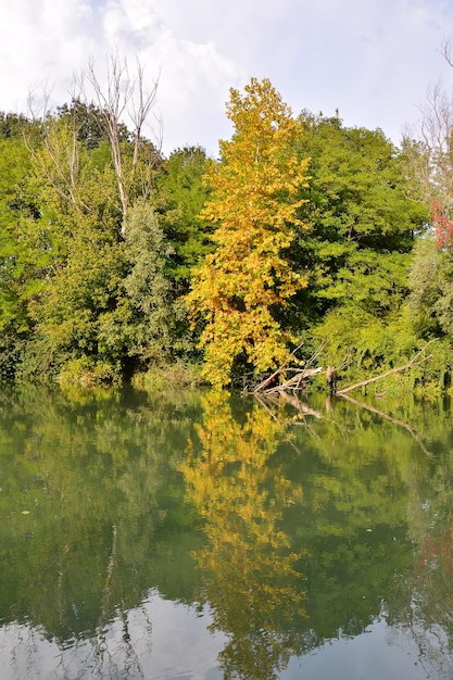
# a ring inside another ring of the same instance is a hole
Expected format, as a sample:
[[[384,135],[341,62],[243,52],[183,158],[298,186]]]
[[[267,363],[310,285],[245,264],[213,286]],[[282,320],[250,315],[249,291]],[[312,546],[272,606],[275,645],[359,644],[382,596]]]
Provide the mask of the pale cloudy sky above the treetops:
[[[429,89],[453,87],[441,55],[453,0],[0,0],[0,111],[71,100],[74,77],[109,56],[158,79],[150,126],[168,155],[210,155],[231,127],[231,87],[269,78],[291,106],[381,128],[394,143],[416,127]]]

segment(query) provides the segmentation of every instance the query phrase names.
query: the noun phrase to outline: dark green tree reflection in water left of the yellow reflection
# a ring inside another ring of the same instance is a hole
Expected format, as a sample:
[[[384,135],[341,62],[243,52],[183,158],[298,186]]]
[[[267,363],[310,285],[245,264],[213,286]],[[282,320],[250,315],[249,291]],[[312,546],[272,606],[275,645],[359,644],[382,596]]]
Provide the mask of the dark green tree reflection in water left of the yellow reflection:
[[[2,634],[17,630],[30,651],[45,639],[79,659],[81,673],[85,643],[102,651],[114,621],[127,640],[126,613],[150,588],[193,603],[190,551],[204,539],[177,467],[198,400],[30,396],[0,404]]]

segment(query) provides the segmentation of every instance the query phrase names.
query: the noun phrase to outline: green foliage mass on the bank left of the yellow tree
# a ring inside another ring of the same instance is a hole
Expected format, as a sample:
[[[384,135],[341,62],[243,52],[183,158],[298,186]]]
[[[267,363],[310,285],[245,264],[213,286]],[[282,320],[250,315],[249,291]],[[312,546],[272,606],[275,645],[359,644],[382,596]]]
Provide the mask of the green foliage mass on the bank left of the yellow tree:
[[[125,128],[117,131],[123,171],[134,162],[131,201],[142,175],[150,176],[149,158],[140,151],[133,159],[136,140],[129,143]],[[25,139],[1,140],[5,162],[16,165],[16,148],[26,159],[20,177],[2,175],[10,177],[3,192],[9,223],[1,232],[9,274],[0,290],[0,324],[5,331],[11,326],[11,340],[4,332],[0,348],[3,375],[112,381],[135,362],[146,366],[184,352],[186,310],[168,275],[173,248],[143,198],[128,205],[123,219],[102,113],[75,100],[30,124]],[[29,201],[20,202],[20,180],[23,196],[34,191],[41,211],[29,215]],[[21,343],[22,331],[27,335]]]

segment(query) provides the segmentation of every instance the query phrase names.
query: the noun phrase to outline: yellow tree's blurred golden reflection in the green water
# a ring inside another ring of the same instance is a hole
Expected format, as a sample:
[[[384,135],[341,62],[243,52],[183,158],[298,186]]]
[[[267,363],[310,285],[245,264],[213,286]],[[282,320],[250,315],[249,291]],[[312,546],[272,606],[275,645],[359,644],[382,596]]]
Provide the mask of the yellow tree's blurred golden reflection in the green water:
[[[284,436],[270,414],[255,404],[239,423],[221,393],[203,406],[202,453],[191,446],[183,468],[209,539],[196,555],[202,599],[212,628],[229,638],[219,658],[225,678],[267,680],[297,653],[297,622],[305,616],[301,555],[279,526],[302,491],[269,462]]]

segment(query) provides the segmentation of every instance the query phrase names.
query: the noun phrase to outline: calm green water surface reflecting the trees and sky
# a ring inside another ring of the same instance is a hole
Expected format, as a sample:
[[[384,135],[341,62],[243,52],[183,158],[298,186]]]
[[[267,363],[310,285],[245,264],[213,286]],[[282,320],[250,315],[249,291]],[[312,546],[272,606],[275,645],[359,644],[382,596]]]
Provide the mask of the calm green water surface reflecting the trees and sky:
[[[452,416],[3,388],[0,678],[452,678]]]

